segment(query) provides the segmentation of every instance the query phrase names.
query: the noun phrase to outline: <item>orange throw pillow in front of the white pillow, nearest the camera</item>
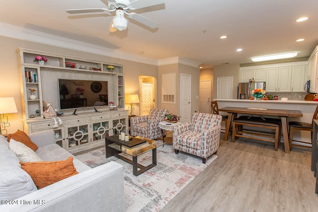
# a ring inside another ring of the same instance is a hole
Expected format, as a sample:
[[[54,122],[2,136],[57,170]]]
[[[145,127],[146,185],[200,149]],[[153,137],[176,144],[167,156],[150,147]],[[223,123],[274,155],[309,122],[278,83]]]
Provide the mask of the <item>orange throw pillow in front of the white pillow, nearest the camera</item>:
[[[20,162],[20,164],[38,189],[79,173],[74,167],[72,156],[60,161]]]

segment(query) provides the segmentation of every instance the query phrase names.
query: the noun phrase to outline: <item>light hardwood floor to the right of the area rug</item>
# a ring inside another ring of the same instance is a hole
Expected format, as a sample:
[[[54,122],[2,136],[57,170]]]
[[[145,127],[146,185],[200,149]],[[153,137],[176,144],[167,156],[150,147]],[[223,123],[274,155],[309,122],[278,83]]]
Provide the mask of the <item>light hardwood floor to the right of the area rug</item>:
[[[274,151],[274,143],[220,141],[218,158],[161,212],[318,212],[311,149],[283,149],[283,143]]]

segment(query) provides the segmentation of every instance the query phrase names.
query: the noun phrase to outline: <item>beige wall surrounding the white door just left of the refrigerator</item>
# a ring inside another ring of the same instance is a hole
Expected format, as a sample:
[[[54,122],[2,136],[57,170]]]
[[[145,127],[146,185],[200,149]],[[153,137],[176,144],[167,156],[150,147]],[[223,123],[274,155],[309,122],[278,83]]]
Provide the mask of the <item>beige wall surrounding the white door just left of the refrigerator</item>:
[[[232,98],[238,98],[239,64],[227,64],[213,68],[213,99],[217,98],[218,77],[233,76]]]

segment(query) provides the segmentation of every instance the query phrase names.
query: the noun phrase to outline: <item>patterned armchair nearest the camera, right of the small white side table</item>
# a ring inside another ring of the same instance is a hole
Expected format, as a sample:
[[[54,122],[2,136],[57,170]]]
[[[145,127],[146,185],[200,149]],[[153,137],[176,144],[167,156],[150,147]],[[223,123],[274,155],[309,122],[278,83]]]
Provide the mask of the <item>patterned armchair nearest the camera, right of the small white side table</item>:
[[[173,126],[173,147],[202,157],[202,162],[219,148],[222,116],[193,113],[192,121]]]

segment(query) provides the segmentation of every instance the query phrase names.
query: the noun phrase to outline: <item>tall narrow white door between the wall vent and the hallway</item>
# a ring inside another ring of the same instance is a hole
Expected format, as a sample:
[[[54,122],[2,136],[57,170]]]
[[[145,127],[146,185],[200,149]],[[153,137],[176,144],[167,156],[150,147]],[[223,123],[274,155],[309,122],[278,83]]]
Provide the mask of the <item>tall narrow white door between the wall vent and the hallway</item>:
[[[191,75],[180,74],[180,122],[191,121]]]

